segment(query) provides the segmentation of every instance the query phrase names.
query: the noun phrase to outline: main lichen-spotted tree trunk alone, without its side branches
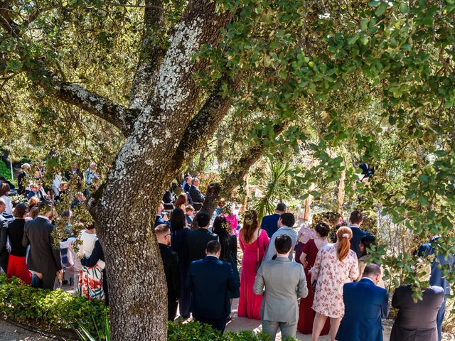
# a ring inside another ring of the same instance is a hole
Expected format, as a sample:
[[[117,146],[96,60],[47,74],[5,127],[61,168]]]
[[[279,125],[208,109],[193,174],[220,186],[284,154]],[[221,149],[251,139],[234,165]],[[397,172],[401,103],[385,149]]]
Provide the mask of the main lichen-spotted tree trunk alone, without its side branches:
[[[166,281],[154,236],[155,210],[175,175],[173,156],[198,102],[193,75],[207,62],[194,61],[193,55],[201,45],[216,45],[229,21],[229,13],[215,13],[214,1],[190,1],[157,72],[151,100],[119,151],[100,202],[92,204],[107,277],[114,278],[109,284],[113,341],[166,340]]]

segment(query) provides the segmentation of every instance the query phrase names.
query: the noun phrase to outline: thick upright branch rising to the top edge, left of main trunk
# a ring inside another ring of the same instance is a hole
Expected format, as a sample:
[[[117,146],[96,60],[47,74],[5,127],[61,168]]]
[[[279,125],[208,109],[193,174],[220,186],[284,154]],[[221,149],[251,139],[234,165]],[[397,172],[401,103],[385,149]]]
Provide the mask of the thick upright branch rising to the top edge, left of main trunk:
[[[129,95],[131,108],[144,107],[149,101],[166,54],[163,0],[146,0],[145,4],[142,49]]]

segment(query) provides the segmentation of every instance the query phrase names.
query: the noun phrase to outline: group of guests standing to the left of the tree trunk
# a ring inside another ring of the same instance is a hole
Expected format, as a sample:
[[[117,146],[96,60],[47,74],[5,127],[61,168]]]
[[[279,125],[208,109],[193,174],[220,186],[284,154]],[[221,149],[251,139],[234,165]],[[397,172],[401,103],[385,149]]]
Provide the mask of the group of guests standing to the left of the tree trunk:
[[[23,163],[21,170],[17,190],[6,179],[0,180],[1,271],[35,288],[53,290],[68,284],[87,299],[108,303],[104,254],[95,229],[84,226],[75,236],[71,224],[66,224],[63,240],[55,241],[53,234],[58,216],[71,217],[75,206],[85,202],[90,185],[101,178],[96,163],[90,163],[83,173],[73,163],[63,175],[55,175],[49,189],[44,185],[42,163],[34,168]],[[72,179],[80,192],[71,197],[66,210],[57,212],[55,203],[63,199]],[[11,200],[11,192],[21,197]]]

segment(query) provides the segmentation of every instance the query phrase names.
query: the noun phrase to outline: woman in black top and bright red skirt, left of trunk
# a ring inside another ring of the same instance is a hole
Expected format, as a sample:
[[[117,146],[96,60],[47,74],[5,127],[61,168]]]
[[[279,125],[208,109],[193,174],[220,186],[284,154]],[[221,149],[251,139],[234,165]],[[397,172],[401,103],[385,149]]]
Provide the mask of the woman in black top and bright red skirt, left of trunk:
[[[31,273],[26,265],[27,248],[22,246],[23,227],[26,224],[25,216],[27,206],[19,204],[14,210],[14,219],[8,226],[8,238],[11,244],[11,253],[9,254],[8,269],[6,277],[15,276],[21,278],[23,283],[31,283]]]

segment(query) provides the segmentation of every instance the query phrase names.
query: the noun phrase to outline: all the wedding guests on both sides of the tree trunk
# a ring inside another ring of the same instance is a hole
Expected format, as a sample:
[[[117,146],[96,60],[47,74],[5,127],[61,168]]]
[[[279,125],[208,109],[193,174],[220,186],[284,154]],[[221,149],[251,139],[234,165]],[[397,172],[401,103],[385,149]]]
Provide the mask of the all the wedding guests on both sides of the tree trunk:
[[[26,164],[23,173],[30,169]],[[42,174],[43,167],[38,165],[36,176]],[[65,188],[61,186],[64,181],[57,178],[60,183],[48,194],[38,182],[25,183],[27,175],[21,175],[18,193],[28,198],[28,204],[11,202],[11,184],[2,181],[0,185],[1,269],[6,276],[37,288],[52,290],[55,283],[77,283],[79,295],[108,302],[106,264],[95,229],[85,227],[77,236],[69,233],[60,249],[54,247],[51,201]],[[101,178],[94,163],[84,173],[73,164],[65,178],[73,176],[83,178],[87,185]],[[282,337],[295,337],[299,330],[311,334],[311,340],[321,335],[330,335],[332,341],[382,340],[389,294],[381,266],[368,262],[376,239],[361,228],[361,212],[353,211],[347,221],[339,217],[333,238],[328,222],[296,227],[294,215],[282,202],[260,223],[255,210],[246,210],[239,224],[233,207],[224,200],[215,212],[196,213],[194,206],[205,200],[199,185],[196,176],[185,175],[181,185],[174,184],[166,192],[156,214],[168,320],[192,315],[193,320],[223,332],[232,319],[232,300],[238,298],[237,315],[261,320],[262,330],[272,340],[278,330]],[[75,205],[87,193],[90,186],[78,193]],[[72,208],[68,207],[67,215]],[[422,244],[419,255],[433,254],[438,238]],[[75,252],[77,243],[80,247]],[[393,293],[392,307],[399,311],[390,340],[441,340],[450,290],[438,264],[452,267],[455,256],[436,257],[431,265],[416,269],[420,281],[428,283],[423,300],[415,303],[407,285]]]

